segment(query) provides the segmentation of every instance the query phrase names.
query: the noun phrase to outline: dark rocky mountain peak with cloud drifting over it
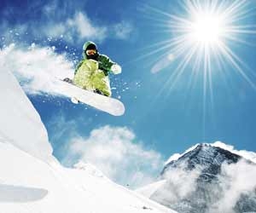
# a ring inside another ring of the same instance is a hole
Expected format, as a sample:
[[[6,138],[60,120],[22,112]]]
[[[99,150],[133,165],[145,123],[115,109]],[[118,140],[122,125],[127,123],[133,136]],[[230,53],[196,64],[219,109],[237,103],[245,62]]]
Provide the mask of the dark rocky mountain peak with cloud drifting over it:
[[[178,212],[252,213],[256,212],[255,178],[252,161],[204,143],[171,158],[160,181],[137,191]]]

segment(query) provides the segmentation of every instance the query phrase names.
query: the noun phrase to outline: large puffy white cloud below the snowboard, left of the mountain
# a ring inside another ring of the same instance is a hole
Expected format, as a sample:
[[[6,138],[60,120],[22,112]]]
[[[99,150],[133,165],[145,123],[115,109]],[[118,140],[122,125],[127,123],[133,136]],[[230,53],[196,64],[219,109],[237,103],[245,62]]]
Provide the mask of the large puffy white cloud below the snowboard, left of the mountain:
[[[78,161],[96,165],[113,181],[130,187],[154,181],[163,165],[160,153],[137,143],[131,130],[108,125],[92,130],[88,138],[73,138],[67,158],[74,156],[79,156]]]

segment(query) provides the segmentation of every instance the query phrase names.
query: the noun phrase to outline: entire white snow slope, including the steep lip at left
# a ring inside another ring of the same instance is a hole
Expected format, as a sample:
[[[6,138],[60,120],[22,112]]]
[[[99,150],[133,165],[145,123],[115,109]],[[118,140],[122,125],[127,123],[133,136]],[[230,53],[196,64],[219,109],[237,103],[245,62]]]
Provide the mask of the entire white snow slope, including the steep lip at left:
[[[0,69],[0,213],[174,212],[109,181],[90,164],[61,166],[11,72]]]

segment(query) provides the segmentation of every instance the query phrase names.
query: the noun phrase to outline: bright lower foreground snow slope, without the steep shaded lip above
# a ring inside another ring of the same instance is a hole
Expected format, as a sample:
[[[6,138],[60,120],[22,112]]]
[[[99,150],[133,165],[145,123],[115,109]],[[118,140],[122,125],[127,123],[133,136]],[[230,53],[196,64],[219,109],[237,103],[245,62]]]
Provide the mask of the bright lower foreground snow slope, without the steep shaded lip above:
[[[46,164],[5,141],[0,170],[1,213],[172,212],[104,176]]]

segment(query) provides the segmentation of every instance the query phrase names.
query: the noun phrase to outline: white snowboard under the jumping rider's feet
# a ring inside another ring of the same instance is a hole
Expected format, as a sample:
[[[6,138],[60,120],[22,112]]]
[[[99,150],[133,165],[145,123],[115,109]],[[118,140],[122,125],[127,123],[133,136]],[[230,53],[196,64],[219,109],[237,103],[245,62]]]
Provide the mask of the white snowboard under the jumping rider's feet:
[[[58,87],[60,89],[59,92],[70,99],[75,98],[81,103],[95,107],[103,112],[108,112],[113,116],[121,116],[125,113],[124,104],[117,99],[81,89],[73,85],[73,83],[67,83],[61,79],[59,79],[59,81],[61,84],[60,87]]]

